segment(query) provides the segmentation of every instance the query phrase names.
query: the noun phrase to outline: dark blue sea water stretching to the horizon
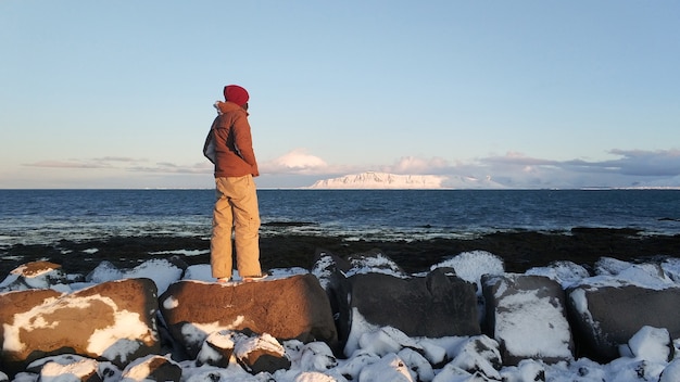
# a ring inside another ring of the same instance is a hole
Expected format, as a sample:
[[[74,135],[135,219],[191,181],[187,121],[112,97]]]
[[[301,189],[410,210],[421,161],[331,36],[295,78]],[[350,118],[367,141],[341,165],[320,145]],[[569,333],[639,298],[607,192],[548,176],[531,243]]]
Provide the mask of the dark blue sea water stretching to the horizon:
[[[574,227],[680,233],[678,190],[259,190],[262,235],[465,238]],[[0,247],[211,230],[213,190],[0,190]]]

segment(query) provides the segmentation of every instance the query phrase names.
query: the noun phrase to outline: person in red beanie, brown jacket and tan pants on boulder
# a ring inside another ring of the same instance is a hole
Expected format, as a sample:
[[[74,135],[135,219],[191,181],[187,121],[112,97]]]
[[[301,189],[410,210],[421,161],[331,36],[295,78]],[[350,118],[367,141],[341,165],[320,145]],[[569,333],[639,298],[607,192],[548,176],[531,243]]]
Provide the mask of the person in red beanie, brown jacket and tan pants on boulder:
[[[210,263],[212,276],[228,282],[236,265],[243,281],[267,275],[260,265],[260,209],[254,177],[259,176],[248,123],[248,91],[238,85],[224,88],[217,117],[211,126],[203,154],[215,165],[216,202],[213,211]]]

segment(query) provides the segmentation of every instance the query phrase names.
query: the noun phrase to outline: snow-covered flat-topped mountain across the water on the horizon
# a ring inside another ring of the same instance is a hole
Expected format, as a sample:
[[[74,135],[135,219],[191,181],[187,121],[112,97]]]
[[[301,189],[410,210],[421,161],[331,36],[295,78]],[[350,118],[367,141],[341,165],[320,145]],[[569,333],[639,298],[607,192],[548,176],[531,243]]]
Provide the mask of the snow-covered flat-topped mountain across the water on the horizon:
[[[441,175],[396,175],[366,171],[318,180],[310,189],[500,189],[490,178],[450,177]]]

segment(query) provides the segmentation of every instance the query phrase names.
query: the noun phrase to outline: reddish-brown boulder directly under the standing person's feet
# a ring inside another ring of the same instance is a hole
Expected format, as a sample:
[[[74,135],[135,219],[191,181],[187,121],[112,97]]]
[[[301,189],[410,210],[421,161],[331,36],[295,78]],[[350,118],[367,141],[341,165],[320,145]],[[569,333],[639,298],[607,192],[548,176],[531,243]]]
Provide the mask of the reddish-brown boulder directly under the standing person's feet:
[[[328,297],[310,273],[245,283],[180,281],[160,302],[169,333],[190,357],[209,334],[224,329],[331,346],[338,341]]]

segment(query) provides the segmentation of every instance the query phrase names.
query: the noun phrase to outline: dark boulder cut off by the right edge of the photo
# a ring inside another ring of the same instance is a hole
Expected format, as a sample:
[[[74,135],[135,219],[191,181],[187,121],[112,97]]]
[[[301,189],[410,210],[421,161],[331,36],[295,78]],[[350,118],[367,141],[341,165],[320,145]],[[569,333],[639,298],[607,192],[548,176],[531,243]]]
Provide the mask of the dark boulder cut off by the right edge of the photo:
[[[680,289],[646,289],[637,285],[582,284],[567,291],[575,336],[585,356],[599,361],[619,357],[619,346],[643,327],[665,328],[680,336]]]

